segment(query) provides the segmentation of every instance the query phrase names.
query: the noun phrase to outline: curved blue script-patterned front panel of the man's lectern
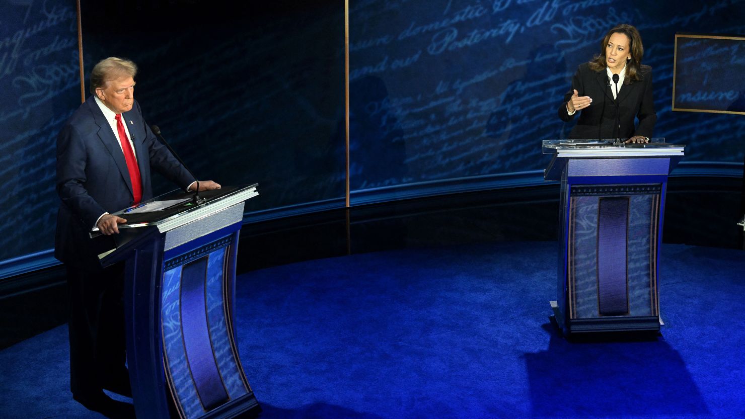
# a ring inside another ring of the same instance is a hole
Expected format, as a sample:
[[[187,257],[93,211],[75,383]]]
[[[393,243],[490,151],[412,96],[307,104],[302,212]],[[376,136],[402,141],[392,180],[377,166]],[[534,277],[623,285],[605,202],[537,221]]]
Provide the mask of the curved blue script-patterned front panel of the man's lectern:
[[[183,418],[197,419],[249,393],[227,321],[232,235],[165,262],[162,292],[166,374]],[[174,250],[178,250],[174,249]],[[178,255],[179,253],[182,253]]]

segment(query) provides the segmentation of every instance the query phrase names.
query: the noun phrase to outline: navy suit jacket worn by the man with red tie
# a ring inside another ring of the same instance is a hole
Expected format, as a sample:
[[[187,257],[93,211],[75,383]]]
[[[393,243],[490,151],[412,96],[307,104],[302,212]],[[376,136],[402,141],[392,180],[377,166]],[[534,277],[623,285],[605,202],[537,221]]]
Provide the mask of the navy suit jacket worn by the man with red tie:
[[[135,101],[121,115],[134,144],[142,200],[153,197],[151,170],[187,188],[194,178],[157,141],[142,118],[139,103]],[[101,214],[133,205],[134,197],[124,153],[93,96],[72,114],[57,138],[57,194],[62,202],[54,257],[72,266],[98,268],[98,247],[88,231]]]

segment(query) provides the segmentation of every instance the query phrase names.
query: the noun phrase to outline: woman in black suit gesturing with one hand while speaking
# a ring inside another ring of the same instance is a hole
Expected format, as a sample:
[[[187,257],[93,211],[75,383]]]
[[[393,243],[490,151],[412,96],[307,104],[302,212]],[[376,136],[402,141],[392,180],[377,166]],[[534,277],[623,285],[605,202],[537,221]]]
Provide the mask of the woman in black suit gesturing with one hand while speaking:
[[[562,121],[571,121],[577,112],[580,115],[569,138],[649,142],[657,114],[652,97],[652,68],[641,65],[643,56],[641,35],[633,26],[618,25],[606,33],[600,54],[577,68],[571,89],[559,106]],[[635,117],[639,120],[637,127]]]

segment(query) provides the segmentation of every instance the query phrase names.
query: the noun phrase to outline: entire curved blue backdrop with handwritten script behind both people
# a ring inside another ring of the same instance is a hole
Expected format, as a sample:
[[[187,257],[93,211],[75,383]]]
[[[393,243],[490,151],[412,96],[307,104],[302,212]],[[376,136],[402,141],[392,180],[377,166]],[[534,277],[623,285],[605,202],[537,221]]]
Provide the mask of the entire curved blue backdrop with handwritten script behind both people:
[[[135,60],[145,117],[199,177],[259,182],[253,220],[340,208],[343,1],[254,3],[83,0],[86,74],[104,57]],[[6,0],[0,16],[7,276],[28,255],[51,260],[54,138],[80,85],[75,1]],[[688,144],[689,167],[707,162],[698,174],[742,173],[745,117],[672,112],[671,101],[674,34],[745,33],[745,1],[352,0],[352,203],[542,182],[539,141],[571,129],[557,106],[618,22],[644,37],[655,135]]]

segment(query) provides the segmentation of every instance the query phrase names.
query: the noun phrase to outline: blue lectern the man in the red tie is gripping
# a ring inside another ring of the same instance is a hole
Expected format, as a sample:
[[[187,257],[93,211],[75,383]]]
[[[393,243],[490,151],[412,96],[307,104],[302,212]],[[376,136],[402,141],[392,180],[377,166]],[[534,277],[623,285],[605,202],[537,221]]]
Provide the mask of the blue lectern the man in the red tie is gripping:
[[[256,185],[172,192],[115,214],[103,266],[125,261],[127,368],[137,418],[235,418],[261,411],[238,358],[233,301],[244,201]],[[92,234],[95,236],[95,233]],[[104,248],[105,249],[105,248]],[[170,406],[169,406],[170,405]]]

